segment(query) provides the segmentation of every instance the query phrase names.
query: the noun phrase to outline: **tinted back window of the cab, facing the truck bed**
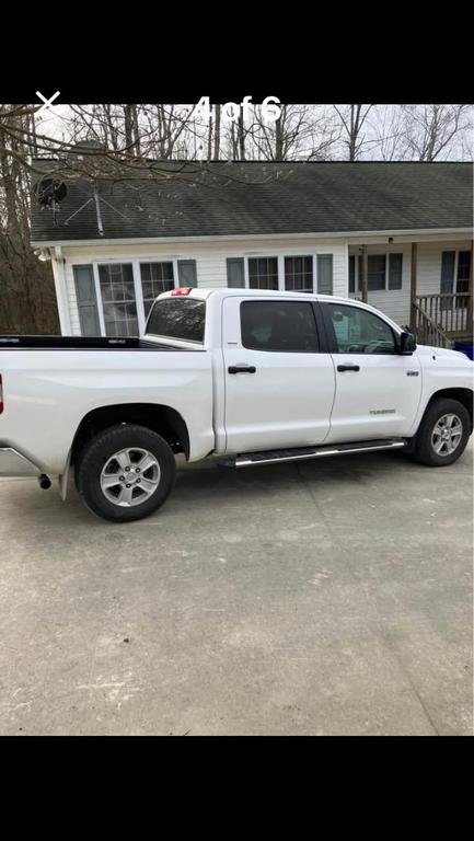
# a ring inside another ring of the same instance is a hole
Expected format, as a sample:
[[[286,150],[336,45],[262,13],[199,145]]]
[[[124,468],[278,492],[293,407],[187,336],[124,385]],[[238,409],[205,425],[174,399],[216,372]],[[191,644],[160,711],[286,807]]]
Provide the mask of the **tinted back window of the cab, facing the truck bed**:
[[[163,298],[153,304],[147,333],[203,343],[205,325],[205,301],[196,298]]]

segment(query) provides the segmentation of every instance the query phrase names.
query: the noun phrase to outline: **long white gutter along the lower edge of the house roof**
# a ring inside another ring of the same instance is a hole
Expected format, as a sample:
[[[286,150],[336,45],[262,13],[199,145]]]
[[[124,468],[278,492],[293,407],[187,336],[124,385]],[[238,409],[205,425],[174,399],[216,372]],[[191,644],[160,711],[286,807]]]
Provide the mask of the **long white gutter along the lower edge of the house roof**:
[[[281,240],[282,238],[292,240],[335,240],[335,239],[355,239],[363,241],[368,237],[440,237],[444,234],[456,234],[472,237],[472,228],[407,228],[407,229],[384,229],[379,231],[313,231],[309,233],[238,233],[238,234],[216,234],[207,237],[127,237],[117,239],[85,239],[85,240],[31,240],[31,246],[53,247],[55,245],[159,245],[160,243],[174,242],[239,242],[242,240]]]

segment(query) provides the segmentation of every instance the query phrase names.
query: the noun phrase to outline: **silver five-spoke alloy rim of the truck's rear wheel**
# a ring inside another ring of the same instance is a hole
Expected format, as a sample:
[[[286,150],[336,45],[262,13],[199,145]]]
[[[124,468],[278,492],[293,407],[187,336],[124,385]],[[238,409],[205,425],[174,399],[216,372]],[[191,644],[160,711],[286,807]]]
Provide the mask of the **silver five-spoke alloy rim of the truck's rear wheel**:
[[[101,473],[101,489],[109,503],[130,508],[149,499],[160,479],[157,458],[141,447],[129,447],[107,459]]]

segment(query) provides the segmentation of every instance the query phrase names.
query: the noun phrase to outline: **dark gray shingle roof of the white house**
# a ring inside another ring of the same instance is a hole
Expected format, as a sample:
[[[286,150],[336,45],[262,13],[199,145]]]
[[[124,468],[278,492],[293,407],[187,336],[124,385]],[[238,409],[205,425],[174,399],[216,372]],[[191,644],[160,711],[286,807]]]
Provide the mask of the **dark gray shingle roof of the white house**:
[[[51,168],[50,161],[36,163]],[[91,197],[92,185],[66,180],[68,195],[57,215],[58,227],[53,214],[33,201],[32,241],[392,231],[473,223],[471,163],[158,165],[169,177],[142,173],[100,182],[103,238],[92,201],[68,221]]]

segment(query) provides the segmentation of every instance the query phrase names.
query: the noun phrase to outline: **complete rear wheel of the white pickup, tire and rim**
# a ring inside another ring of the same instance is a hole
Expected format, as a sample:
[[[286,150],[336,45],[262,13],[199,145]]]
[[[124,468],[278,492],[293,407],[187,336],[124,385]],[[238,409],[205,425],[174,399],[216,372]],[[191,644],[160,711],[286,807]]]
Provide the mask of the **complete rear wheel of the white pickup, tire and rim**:
[[[94,514],[114,522],[148,517],[169,496],[173,452],[157,433],[136,424],[104,429],[81,452],[76,484]]]

